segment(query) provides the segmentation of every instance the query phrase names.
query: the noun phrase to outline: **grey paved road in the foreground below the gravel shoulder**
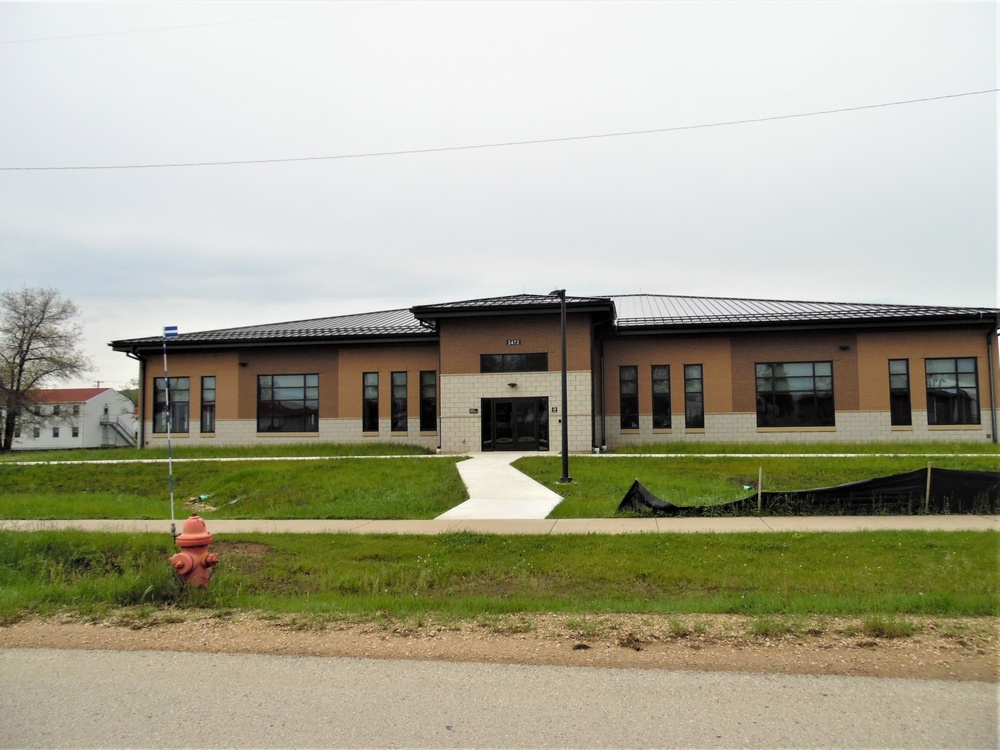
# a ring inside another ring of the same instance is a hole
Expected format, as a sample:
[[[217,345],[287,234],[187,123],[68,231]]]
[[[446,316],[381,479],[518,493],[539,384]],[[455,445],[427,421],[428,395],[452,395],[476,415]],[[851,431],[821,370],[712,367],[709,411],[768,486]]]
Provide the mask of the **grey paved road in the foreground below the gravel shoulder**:
[[[995,748],[997,686],[0,650],[0,747]]]

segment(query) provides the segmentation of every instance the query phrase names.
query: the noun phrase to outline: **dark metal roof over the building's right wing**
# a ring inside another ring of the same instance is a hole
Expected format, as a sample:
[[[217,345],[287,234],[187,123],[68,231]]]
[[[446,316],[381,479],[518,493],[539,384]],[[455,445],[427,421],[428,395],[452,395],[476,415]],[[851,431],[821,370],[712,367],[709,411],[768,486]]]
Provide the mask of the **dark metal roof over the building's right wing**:
[[[859,302],[802,302],[630,294],[612,296],[619,330],[685,326],[860,323],[982,319],[995,321],[1000,310],[979,307],[892,305]]]

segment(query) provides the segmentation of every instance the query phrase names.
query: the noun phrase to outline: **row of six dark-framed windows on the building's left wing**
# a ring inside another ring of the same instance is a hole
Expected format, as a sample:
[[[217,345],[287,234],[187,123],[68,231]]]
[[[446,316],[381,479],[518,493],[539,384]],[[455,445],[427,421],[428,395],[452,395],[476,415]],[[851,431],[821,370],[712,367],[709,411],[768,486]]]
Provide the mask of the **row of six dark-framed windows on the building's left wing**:
[[[406,432],[408,373],[391,374],[390,429]],[[156,378],[153,383],[153,432],[188,432],[191,378]],[[378,432],[379,373],[362,375],[362,430]],[[201,379],[201,432],[215,432],[215,377]],[[168,408],[169,407],[169,408]],[[257,376],[258,432],[319,432],[319,375]],[[437,431],[437,373],[420,373],[420,431]]]

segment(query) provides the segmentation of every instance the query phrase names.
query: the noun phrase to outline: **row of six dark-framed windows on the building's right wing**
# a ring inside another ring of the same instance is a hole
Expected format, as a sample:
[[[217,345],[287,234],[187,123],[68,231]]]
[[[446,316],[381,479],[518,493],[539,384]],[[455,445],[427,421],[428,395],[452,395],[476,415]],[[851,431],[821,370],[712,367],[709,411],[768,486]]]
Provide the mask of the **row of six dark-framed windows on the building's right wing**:
[[[829,427],[835,423],[832,362],[762,362],[755,365],[758,427]],[[975,357],[925,360],[927,423],[979,424]],[[639,368],[618,370],[621,429],[639,429]],[[671,427],[670,365],[653,365],[653,429]],[[889,360],[890,420],[912,424],[910,363]],[[684,365],[684,426],[705,426],[701,365]]]

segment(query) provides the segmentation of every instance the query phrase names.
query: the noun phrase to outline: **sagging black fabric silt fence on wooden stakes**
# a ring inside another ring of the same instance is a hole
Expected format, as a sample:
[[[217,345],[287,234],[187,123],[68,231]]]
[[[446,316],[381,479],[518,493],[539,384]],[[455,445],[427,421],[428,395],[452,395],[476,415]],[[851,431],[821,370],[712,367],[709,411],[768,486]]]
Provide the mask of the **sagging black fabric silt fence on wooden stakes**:
[[[927,472],[930,471],[930,500]],[[759,514],[765,516],[870,516],[997,513],[1000,471],[917,469],[859,482],[790,492],[763,492]],[[618,513],[643,516],[755,516],[758,499],[679,506],[661,500],[639,480],[625,493]]]

